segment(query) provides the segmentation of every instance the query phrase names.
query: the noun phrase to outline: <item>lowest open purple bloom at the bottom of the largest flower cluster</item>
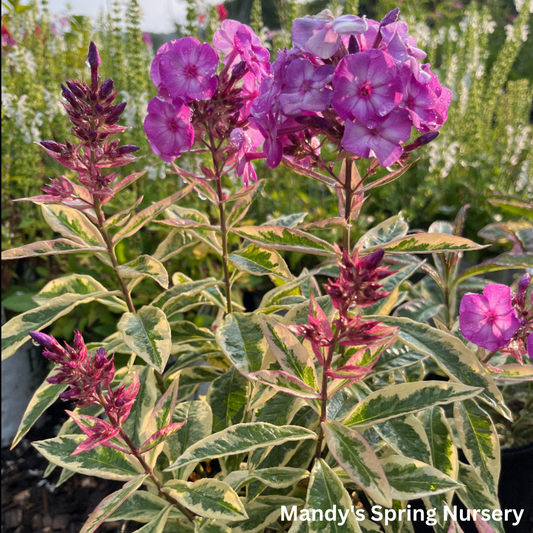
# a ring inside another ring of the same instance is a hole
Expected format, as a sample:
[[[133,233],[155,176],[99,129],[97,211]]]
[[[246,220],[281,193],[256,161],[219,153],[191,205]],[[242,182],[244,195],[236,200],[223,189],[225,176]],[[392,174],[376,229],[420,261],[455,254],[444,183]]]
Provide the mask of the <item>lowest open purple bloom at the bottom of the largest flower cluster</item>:
[[[368,128],[358,120],[347,120],[342,147],[366,158],[373,153],[382,167],[388,167],[402,156],[400,143],[407,141],[410,135],[409,114],[404,109],[394,109],[373,128]]]

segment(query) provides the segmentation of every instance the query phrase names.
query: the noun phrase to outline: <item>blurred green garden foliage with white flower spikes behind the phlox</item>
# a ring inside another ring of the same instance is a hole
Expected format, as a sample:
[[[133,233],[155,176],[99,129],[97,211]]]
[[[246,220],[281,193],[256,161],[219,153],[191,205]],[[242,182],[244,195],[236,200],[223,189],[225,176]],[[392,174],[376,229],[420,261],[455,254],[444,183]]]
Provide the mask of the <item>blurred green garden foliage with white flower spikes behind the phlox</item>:
[[[419,161],[400,180],[372,192],[356,223],[357,233],[400,210],[412,228],[427,230],[437,219],[453,220],[462,205],[470,204],[465,236],[482,240],[477,233],[483,226],[521,214],[505,203],[492,205],[491,197],[512,195],[531,202],[533,20],[529,2],[232,0],[224,6],[230,18],[252,25],[269,43],[273,56],[278,48],[290,45],[294,17],[329,8],[336,15],[359,13],[380,19],[399,6],[401,18],[428,53],[432,69],[443,85],[452,89],[453,103],[441,136],[419,150]],[[169,173],[170,167],[151,153],[142,128],[147,103],[156,93],[149,77],[150,64],[157,48],[171,38],[196,35],[209,40],[224,10],[202,0],[189,0],[186,22],[176,25],[174,34],[161,35],[141,31],[137,0],[115,0],[111,12],[102,12],[96,20],[70,12],[52,16],[44,0],[4,0],[2,7],[2,248],[53,237],[38,206],[12,200],[39,194],[45,181],[64,171],[34,143],[70,138],[60,104],[60,84],[87,76],[85,55],[91,39],[100,49],[102,75],[113,77],[118,101],[128,103],[121,123],[131,129],[122,139],[141,148],[142,158],[123,168],[123,173],[148,169],[146,178],[110,202],[110,209],[123,209],[137,195],[144,195],[140,209],[181,187],[178,178]],[[194,170],[201,163],[198,159],[184,156],[180,165]],[[283,166],[271,171],[259,163],[257,170],[267,183],[248,214],[249,223],[295,212],[308,212],[308,222],[336,215],[336,195],[325,186]],[[238,186],[238,180],[229,176],[228,187]],[[209,214],[209,206],[201,199],[190,197],[186,202]],[[119,260],[153,253],[167,233],[160,225],[147,226],[127,245],[124,241],[119,245]],[[321,237],[335,240],[339,235],[322,233]],[[470,254],[470,259],[500,251],[484,250],[477,257]],[[290,254],[287,260],[296,274],[314,266],[308,264],[312,258],[298,254]],[[220,273],[220,265],[202,246],[166,266],[170,273],[181,271],[193,278]],[[112,285],[107,267],[95,265],[88,257],[4,262],[2,292],[8,315],[34,307],[31,295],[67,272],[90,272]],[[269,282],[264,278],[250,277],[244,280],[244,287],[260,291],[265,283]],[[156,290],[155,285],[144,282],[136,289],[138,303],[150,301]],[[68,338],[76,326],[100,336],[114,324],[111,311],[95,303],[58,321],[52,333]]]

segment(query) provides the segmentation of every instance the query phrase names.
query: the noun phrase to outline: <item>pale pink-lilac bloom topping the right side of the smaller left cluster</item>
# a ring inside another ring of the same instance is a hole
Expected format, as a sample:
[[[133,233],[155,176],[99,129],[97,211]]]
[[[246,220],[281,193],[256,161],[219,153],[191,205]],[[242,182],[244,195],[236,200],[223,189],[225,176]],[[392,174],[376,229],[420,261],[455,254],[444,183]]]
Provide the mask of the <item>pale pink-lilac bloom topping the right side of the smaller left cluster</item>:
[[[227,68],[245,61],[258,82],[268,76],[270,53],[250,26],[236,20],[224,20],[220,29],[213,35],[213,45],[226,55],[223,63]]]

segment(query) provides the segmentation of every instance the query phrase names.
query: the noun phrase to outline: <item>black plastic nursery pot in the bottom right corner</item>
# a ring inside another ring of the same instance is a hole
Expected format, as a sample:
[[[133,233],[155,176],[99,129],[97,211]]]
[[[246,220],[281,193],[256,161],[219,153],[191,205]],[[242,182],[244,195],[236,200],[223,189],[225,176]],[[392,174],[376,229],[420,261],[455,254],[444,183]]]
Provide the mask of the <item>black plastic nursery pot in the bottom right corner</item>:
[[[498,495],[501,509],[524,510],[520,523],[503,522],[506,533],[533,533],[533,442],[521,448],[507,448],[501,452],[501,474]],[[422,500],[414,500],[412,508],[424,509]],[[464,509],[457,496],[453,505]],[[464,533],[478,533],[474,522],[459,521]],[[434,533],[424,522],[413,522],[415,533]]]

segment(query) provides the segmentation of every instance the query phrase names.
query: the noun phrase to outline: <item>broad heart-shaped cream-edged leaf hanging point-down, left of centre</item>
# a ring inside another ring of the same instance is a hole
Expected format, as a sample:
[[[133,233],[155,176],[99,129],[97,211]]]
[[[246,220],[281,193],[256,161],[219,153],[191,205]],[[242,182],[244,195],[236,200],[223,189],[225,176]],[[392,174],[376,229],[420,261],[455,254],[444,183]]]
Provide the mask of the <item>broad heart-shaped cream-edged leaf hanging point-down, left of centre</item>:
[[[162,373],[172,349],[170,325],[161,309],[142,307],[137,313],[124,313],[117,325],[126,345],[143,361]]]

